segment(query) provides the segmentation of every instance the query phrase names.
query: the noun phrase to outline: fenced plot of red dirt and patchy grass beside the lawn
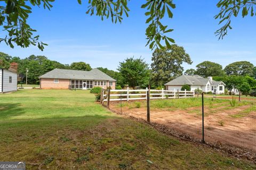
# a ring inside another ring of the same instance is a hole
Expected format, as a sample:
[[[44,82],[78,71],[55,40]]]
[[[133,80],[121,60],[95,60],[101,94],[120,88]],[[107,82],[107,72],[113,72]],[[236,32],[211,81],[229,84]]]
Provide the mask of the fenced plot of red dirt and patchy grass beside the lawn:
[[[205,142],[256,152],[256,100],[203,95],[197,98],[195,94],[163,100],[162,93],[156,92],[159,91],[150,90],[149,100],[127,100],[120,91],[120,98],[111,101],[109,107]]]

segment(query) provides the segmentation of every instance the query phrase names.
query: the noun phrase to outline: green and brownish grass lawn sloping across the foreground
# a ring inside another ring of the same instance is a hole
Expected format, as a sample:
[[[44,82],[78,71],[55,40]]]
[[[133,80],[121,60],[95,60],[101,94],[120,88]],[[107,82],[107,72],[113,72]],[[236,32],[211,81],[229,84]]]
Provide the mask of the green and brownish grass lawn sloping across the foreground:
[[[109,112],[87,90],[0,94],[0,160],[27,169],[255,169]]]

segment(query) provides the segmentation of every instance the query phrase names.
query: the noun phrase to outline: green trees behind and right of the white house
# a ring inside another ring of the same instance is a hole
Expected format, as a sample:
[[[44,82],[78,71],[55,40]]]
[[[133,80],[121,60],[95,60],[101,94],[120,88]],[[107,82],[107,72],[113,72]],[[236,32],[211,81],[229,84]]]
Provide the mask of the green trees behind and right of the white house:
[[[196,70],[189,69],[185,75],[212,76],[215,81],[223,81],[231,95],[231,90],[236,89],[244,95],[256,96],[256,67],[247,61],[234,62],[224,69],[218,63],[205,61],[196,66]]]

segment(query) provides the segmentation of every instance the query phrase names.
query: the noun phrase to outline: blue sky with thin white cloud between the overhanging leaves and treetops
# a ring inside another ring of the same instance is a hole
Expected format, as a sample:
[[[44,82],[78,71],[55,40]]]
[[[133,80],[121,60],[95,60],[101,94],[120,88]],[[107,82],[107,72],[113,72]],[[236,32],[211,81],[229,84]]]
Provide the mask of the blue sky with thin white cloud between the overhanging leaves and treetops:
[[[141,56],[148,64],[151,63],[153,52],[145,47],[145,10],[140,8],[145,1],[130,1],[130,16],[124,17],[122,24],[101,21],[98,16],[85,14],[87,1],[83,2],[79,5],[76,0],[57,0],[51,11],[33,8],[28,22],[37,30],[41,40],[49,44],[43,52],[36,47],[11,49],[5,44],[0,45],[0,51],[21,58],[31,54],[45,55],[63,64],[83,61],[92,67],[112,70],[117,69],[119,62],[132,56]],[[185,70],[195,69],[197,64],[206,60],[223,67],[235,61],[250,61],[256,65],[256,17],[233,18],[233,30],[225,39],[218,40],[214,35],[219,28],[218,20],[213,18],[219,11],[215,7],[217,2],[176,0],[173,19],[163,21],[174,29],[169,37],[183,46],[193,60],[192,65],[183,64]],[[3,37],[3,31],[0,37]]]

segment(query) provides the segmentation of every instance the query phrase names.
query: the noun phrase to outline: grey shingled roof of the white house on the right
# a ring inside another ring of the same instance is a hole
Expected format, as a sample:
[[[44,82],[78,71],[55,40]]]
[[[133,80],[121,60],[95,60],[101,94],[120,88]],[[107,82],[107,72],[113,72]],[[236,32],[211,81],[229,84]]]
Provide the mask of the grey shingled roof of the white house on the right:
[[[167,82],[166,84],[164,85],[183,85],[183,84],[188,84],[188,85],[206,85],[207,82],[209,82],[211,84],[220,84],[222,81],[214,81],[214,80],[211,80],[210,78],[203,78],[199,75],[181,75],[180,77],[170,81],[170,82]],[[223,83],[223,82],[222,82]],[[224,83],[223,83],[224,84]],[[226,84],[225,84],[226,85]]]

